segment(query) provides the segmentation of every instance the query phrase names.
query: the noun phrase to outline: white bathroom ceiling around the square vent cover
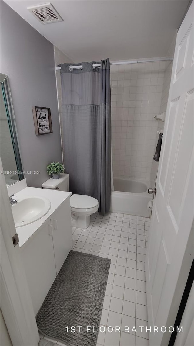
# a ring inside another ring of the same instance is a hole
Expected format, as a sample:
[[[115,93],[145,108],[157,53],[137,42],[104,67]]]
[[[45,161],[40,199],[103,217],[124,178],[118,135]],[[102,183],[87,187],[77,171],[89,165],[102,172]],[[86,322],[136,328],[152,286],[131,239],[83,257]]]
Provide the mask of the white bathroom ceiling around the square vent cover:
[[[43,25],[27,10],[49,2],[6,0],[72,61],[166,56],[188,1],[50,0],[64,21]]]

